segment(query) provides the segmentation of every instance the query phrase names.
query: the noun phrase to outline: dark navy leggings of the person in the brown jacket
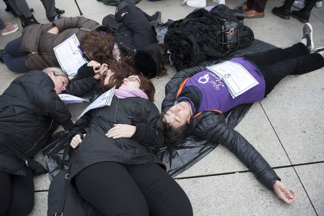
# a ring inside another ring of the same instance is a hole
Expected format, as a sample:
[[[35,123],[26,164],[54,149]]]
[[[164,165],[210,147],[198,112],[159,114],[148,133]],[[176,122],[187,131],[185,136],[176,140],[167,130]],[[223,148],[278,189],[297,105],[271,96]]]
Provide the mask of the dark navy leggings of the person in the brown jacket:
[[[19,51],[21,36],[7,43],[5,46],[6,54],[1,55],[1,60],[5,62],[9,70],[13,72],[26,73],[29,70],[26,67],[24,58],[30,52]]]

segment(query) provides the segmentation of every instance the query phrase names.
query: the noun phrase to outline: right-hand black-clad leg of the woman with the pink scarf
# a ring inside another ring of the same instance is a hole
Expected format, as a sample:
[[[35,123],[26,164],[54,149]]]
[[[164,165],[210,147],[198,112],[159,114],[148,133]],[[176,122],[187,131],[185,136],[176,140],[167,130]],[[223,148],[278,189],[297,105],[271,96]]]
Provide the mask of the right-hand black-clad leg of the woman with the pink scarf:
[[[129,165],[129,173],[141,190],[149,215],[191,216],[189,198],[178,183],[158,164]]]

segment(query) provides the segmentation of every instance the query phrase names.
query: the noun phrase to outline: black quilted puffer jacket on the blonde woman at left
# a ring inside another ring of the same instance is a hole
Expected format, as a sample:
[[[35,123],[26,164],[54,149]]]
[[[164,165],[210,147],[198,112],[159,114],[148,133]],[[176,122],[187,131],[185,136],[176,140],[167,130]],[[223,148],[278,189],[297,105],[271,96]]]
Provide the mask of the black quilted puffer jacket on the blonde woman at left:
[[[81,96],[97,81],[93,77],[72,82],[63,93]],[[16,78],[0,96],[0,170],[25,175],[47,170],[33,156],[41,150],[57,125],[73,126],[71,114],[54,90],[52,79],[42,71]]]

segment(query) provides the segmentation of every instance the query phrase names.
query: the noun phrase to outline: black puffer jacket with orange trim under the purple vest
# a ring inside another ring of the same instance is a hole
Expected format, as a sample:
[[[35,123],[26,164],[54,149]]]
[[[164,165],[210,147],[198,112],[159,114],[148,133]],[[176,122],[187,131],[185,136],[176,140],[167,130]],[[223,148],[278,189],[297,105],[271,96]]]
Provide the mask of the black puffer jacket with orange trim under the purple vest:
[[[174,88],[171,90],[166,89],[168,94],[162,102],[163,112],[166,112],[174,104],[180,83],[203,69],[204,67],[202,66],[195,66],[186,69],[185,73],[177,73],[171,79]],[[241,134],[226,124],[225,118],[224,114],[216,111],[203,111],[196,118],[192,119],[190,131],[194,136],[223,144],[256,175],[263,185],[271,189],[274,182],[280,180],[280,178],[260,153]]]

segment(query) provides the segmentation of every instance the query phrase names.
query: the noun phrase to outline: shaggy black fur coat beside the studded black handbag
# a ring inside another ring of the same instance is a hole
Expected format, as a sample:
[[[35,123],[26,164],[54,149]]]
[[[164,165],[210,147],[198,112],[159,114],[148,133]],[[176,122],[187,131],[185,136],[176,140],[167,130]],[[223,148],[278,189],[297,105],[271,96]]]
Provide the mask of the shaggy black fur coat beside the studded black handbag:
[[[215,34],[225,22],[223,19],[238,23],[239,48],[253,42],[253,31],[240,24],[227,6],[215,6],[210,12],[201,8],[172,23],[165,35],[164,44],[172,53],[171,60],[177,71],[192,67],[207,58],[217,59],[226,53],[222,44],[215,39]]]

